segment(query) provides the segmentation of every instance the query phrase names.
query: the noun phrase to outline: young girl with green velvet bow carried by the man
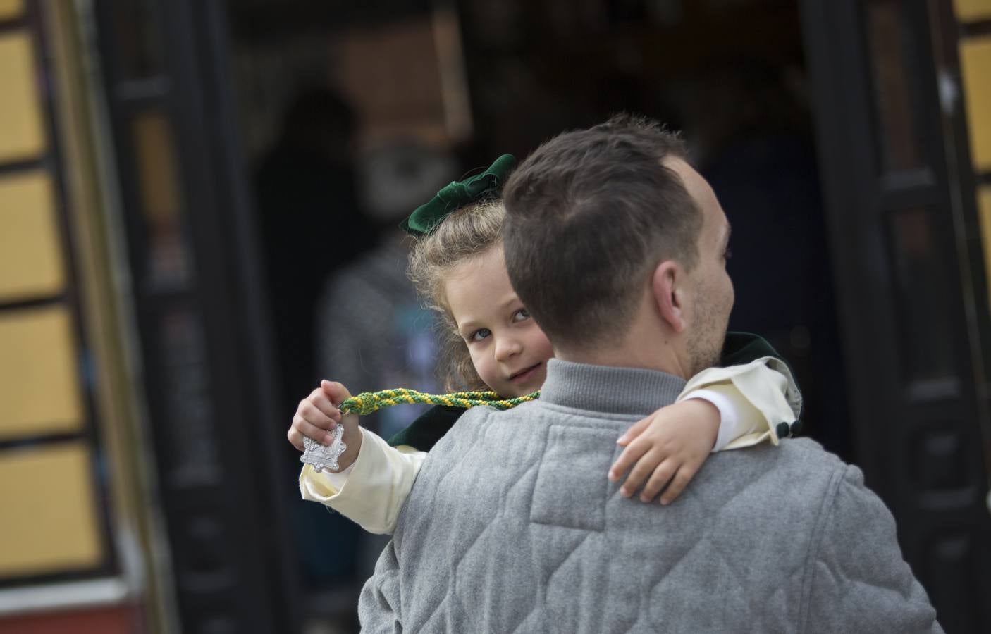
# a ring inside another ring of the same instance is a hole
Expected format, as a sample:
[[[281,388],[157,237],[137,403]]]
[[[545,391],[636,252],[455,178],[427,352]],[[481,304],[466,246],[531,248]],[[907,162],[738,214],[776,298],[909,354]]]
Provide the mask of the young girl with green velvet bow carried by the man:
[[[512,398],[540,389],[550,342],[509,284],[500,241],[504,210],[496,198],[512,166],[508,155],[484,173],[454,182],[403,223],[416,244],[409,276],[425,303],[442,320],[442,369],[449,390],[495,390]],[[724,368],[693,377],[676,403],[634,424],[616,442],[623,452],[609,470],[620,494],[636,490],[650,501],[674,500],[711,452],[777,444],[797,430],[801,395],[783,360],[762,339],[729,333]],[[322,381],[303,399],[288,431],[302,450],[307,436],[325,445],[344,426],[347,451],[336,474],[304,465],[304,498],[319,501],[361,524],[390,533],[420,465],[464,409],[436,406],[389,444],[361,429],[356,416],[342,418],[336,405],[350,393]],[[343,422],[342,422],[343,421]],[[628,472],[628,474],[627,474]]]

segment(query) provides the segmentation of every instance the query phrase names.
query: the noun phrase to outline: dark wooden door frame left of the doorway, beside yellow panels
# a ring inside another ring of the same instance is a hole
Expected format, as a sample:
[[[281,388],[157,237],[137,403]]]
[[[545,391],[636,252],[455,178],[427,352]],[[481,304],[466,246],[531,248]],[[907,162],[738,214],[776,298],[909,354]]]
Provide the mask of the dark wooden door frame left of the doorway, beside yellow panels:
[[[235,121],[225,5],[91,6],[181,630],[297,632],[296,553],[284,503],[292,487],[276,451],[285,442],[277,424],[285,416],[275,412],[273,342]],[[125,67],[135,53],[121,50],[126,38],[152,51],[139,76]],[[193,270],[172,286],[148,273],[152,237],[134,122],[149,112],[167,122],[174,147],[178,233]],[[176,329],[178,358],[168,339]],[[194,426],[182,420],[186,414],[195,414]]]

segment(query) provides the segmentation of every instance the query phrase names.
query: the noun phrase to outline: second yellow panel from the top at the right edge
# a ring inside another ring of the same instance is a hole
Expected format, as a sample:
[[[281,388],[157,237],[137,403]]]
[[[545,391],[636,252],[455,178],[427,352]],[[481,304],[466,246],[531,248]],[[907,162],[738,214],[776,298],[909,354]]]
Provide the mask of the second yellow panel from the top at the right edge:
[[[970,153],[977,171],[991,169],[991,37],[960,42]]]

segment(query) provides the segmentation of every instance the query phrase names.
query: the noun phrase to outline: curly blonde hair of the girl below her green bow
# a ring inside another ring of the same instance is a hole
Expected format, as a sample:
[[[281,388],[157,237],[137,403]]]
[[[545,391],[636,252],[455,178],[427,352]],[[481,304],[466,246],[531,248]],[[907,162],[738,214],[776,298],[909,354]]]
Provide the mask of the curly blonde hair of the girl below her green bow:
[[[407,274],[423,304],[437,312],[440,355],[438,373],[448,391],[490,389],[472,364],[468,347],[458,334],[458,324],[444,296],[444,282],[451,270],[501,244],[505,209],[498,199],[461,207],[416,240],[409,254]]]

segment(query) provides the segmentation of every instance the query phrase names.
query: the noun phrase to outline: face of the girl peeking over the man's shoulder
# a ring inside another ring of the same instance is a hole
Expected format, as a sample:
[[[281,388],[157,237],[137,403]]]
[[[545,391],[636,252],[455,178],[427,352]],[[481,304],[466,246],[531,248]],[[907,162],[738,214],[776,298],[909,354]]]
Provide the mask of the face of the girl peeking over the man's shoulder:
[[[455,266],[444,291],[482,380],[506,397],[540,389],[554,351],[509,284],[502,245]]]

